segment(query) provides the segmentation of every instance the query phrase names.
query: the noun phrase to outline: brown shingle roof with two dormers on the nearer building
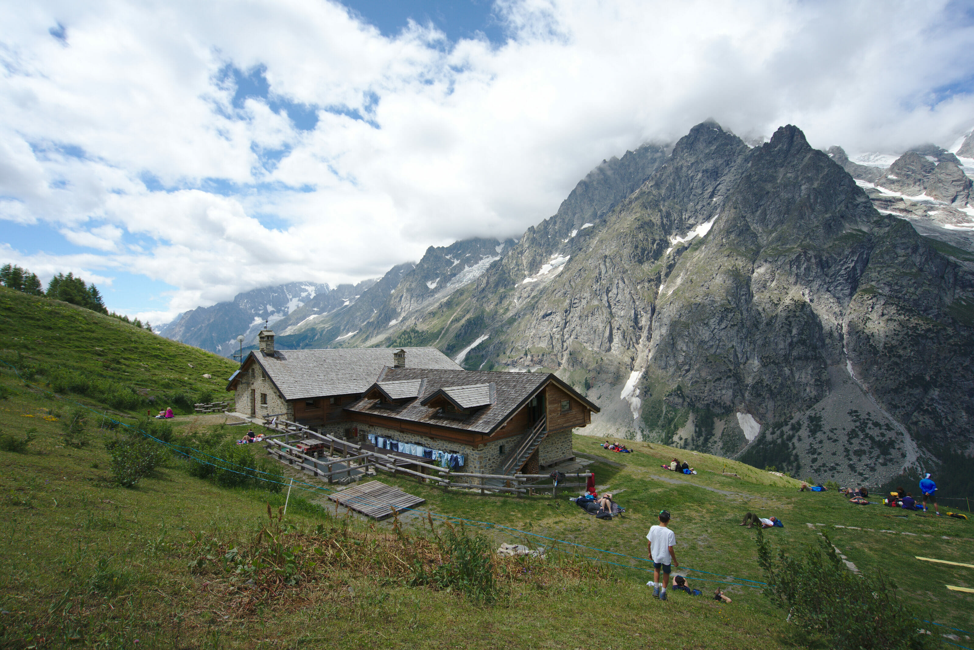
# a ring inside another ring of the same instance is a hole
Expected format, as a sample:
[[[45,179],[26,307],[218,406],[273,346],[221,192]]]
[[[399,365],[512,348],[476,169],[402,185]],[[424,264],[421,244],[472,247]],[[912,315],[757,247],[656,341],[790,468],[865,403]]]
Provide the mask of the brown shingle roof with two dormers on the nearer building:
[[[595,404],[582,397],[567,383],[549,373],[426,370],[407,367],[390,368],[383,375],[383,381],[406,379],[426,379],[418,399],[390,408],[388,404],[380,406],[380,400],[363,397],[356,403],[345,407],[346,411],[382,415],[383,417],[423,422],[452,429],[462,429],[470,433],[490,435],[499,429],[508,417],[517,413],[521,407],[527,404],[528,400],[537,395],[548,382],[555,382],[560,388],[578,399],[586,408],[594,413],[599,412],[599,408]],[[451,395],[451,398],[453,395],[460,395],[469,400],[468,403],[482,403],[477,405],[482,406],[482,408],[466,416],[440,415],[438,409],[431,408],[426,404],[431,401],[430,398],[436,393],[447,393]],[[485,402],[485,395],[490,401]]]

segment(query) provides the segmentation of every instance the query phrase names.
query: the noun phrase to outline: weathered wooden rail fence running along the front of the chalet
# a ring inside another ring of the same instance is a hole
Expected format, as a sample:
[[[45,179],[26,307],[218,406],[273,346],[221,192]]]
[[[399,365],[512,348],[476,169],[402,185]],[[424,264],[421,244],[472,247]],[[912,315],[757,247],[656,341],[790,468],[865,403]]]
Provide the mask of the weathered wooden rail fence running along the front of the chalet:
[[[550,492],[557,496],[559,491],[568,488],[584,488],[585,483],[559,483],[557,486],[537,486],[534,482],[551,478],[547,474],[471,474],[465,472],[451,472],[448,469],[419,460],[417,456],[402,454],[397,451],[383,452],[365,449],[347,440],[336,438],[329,434],[318,433],[303,424],[277,417],[272,424],[272,418],[267,417],[264,426],[280,433],[264,436],[265,448],[268,453],[282,463],[300,468],[311,473],[326,483],[334,480],[352,480],[356,476],[364,476],[372,470],[388,472],[390,474],[405,474],[415,477],[420,483],[434,483],[444,489],[464,489],[486,492],[510,492],[518,496],[533,495]],[[316,441],[317,451],[306,453],[306,450],[295,447],[302,441]],[[385,450],[384,450],[385,451]],[[355,463],[353,465],[353,463]],[[335,469],[336,465],[341,465]],[[409,469],[406,465],[415,467]],[[591,473],[565,474],[565,478],[587,479]],[[467,479],[467,481],[455,481]],[[489,483],[485,483],[489,482]],[[503,482],[503,484],[501,484]],[[500,484],[500,485],[495,485]]]

